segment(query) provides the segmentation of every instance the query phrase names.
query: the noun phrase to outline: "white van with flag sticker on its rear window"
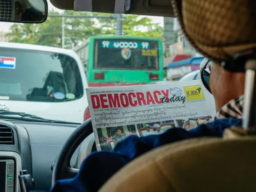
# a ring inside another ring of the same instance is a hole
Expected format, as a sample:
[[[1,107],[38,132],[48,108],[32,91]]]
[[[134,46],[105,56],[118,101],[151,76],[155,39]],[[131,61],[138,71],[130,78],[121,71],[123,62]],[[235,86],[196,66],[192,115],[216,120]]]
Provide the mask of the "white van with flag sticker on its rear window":
[[[0,110],[82,123],[86,88],[73,50],[0,42]]]

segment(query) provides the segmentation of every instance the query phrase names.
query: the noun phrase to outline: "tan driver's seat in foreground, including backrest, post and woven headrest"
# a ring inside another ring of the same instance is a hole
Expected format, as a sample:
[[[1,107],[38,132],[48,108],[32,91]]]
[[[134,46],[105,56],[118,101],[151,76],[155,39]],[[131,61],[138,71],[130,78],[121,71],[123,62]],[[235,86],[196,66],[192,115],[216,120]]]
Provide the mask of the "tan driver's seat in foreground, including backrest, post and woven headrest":
[[[246,71],[242,128],[223,138],[161,146],[131,161],[100,192],[252,192],[256,190],[256,1],[172,0],[189,43],[232,72]]]

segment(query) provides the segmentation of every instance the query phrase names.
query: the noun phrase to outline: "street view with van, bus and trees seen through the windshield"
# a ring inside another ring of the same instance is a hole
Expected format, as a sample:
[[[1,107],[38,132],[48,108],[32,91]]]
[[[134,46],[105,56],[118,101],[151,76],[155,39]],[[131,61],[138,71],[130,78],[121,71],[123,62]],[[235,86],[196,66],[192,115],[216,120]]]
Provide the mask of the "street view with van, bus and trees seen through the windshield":
[[[89,87],[200,79],[176,18],[60,10],[0,26],[0,110],[82,123]]]

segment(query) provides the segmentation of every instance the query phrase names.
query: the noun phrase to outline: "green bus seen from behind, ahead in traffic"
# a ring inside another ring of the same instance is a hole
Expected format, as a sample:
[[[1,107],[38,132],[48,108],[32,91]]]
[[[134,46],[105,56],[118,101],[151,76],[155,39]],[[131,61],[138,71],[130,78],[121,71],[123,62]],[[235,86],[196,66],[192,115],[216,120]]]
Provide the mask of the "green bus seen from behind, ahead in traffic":
[[[90,37],[74,51],[89,87],[146,84],[164,76],[162,41],[157,38]]]

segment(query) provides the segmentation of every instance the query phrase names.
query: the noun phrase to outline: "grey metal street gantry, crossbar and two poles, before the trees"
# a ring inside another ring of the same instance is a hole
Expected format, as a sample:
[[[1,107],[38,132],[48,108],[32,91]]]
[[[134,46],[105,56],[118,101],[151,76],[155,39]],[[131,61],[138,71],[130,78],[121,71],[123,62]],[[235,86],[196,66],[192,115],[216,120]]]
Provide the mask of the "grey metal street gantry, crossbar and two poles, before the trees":
[[[123,28],[123,16],[122,14],[115,14],[115,16],[87,16],[87,15],[55,15],[49,14],[48,17],[61,17],[62,18],[62,48],[65,46],[65,18],[111,18],[116,21],[116,35],[122,35]]]

